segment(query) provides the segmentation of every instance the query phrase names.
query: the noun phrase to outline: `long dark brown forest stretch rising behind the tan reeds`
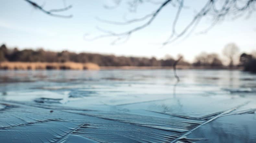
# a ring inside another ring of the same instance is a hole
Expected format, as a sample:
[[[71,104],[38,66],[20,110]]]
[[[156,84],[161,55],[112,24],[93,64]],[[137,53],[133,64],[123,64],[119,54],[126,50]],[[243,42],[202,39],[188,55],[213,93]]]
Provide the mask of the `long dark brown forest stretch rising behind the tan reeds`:
[[[168,57],[157,60],[155,57],[125,57],[97,53],[75,53],[69,51],[52,52],[38,50],[18,50],[7,48],[5,44],[0,47],[0,62],[80,62],[96,63],[99,66],[172,66],[175,59]],[[190,65],[189,62],[181,60],[179,65]]]

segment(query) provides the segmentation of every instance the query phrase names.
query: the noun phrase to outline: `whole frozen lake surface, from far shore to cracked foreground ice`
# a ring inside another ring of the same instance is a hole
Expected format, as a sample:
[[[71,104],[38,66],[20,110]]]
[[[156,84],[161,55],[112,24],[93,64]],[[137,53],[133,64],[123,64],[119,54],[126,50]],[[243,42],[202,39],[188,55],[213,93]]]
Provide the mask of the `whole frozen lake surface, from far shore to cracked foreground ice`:
[[[4,142],[255,142],[256,75],[0,71]]]

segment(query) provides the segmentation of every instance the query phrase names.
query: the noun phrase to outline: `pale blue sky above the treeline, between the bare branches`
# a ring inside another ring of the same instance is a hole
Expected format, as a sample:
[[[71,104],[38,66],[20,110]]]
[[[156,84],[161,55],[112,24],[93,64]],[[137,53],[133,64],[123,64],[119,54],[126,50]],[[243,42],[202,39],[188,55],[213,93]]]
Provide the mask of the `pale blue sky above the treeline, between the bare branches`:
[[[44,5],[45,9],[64,7],[63,0],[33,0]],[[157,0],[156,0],[157,1]],[[161,1],[161,0],[158,0]],[[227,18],[217,24],[208,33],[198,34],[211,24],[210,18],[204,18],[197,29],[186,39],[181,38],[161,48],[171,34],[171,25],[177,9],[168,5],[153,23],[145,29],[135,32],[126,43],[111,45],[114,38],[102,38],[95,41],[86,41],[84,38],[98,36],[101,33],[97,26],[115,32],[124,32],[138,26],[112,25],[98,21],[96,17],[111,21],[124,21],[142,17],[158,8],[158,5],[144,3],[136,13],[129,12],[124,3],[115,9],[105,9],[103,5],[113,5],[111,0],[65,0],[66,5],[73,7],[60,14],[72,14],[70,19],[52,17],[33,8],[24,0],[0,0],[0,44],[8,47],[44,48],[52,51],[69,50],[73,52],[96,52],[125,56],[155,56],[163,58],[166,54],[176,57],[183,54],[186,60],[193,61],[201,52],[215,52],[222,55],[223,47],[230,42],[236,43],[240,52],[256,50],[256,14],[250,18],[246,15],[232,20]],[[177,23],[180,32],[195,15],[195,10],[200,9],[206,0],[185,0],[189,8],[182,11]]]

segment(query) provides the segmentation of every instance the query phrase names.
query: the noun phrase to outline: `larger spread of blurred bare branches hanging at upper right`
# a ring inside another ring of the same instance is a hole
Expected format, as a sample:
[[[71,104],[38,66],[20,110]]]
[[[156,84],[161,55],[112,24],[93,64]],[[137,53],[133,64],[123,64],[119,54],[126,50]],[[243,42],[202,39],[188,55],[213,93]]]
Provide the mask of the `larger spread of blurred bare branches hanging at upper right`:
[[[129,5],[137,7],[137,5],[142,2],[143,2],[143,0],[132,0],[132,2],[130,2]],[[153,4],[155,3],[154,1],[152,2],[150,0],[145,0],[145,2],[151,2]],[[225,18],[227,16],[232,16],[234,18],[238,18],[240,16],[243,16],[247,12],[248,12],[248,15],[250,16],[250,14],[252,12],[256,11],[256,8],[255,8],[256,0],[225,0],[222,5],[219,5],[219,2],[223,2],[223,1],[206,0],[206,4],[202,7],[202,9],[199,12],[197,12],[195,14],[195,16],[193,17],[191,22],[188,23],[183,28],[183,30],[181,30],[180,33],[178,33],[176,31],[176,25],[180,19],[180,13],[181,13],[182,9],[184,9],[183,2],[184,2],[184,0],[165,0],[164,2],[161,3],[161,5],[157,8],[157,10],[154,13],[150,13],[150,14],[145,15],[142,18],[132,19],[132,20],[129,20],[126,22],[114,22],[114,21],[98,19],[101,22],[108,23],[108,24],[116,24],[116,25],[127,25],[127,24],[129,25],[129,24],[132,24],[135,22],[144,22],[144,24],[141,24],[141,25],[139,25],[135,28],[132,28],[128,31],[121,32],[121,33],[111,32],[111,33],[107,33],[104,36],[98,36],[98,38],[113,36],[113,37],[117,37],[117,40],[118,40],[118,39],[120,39],[120,37],[130,36],[132,33],[135,33],[137,31],[142,30],[145,27],[149,26],[155,20],[155,18],[160,13],[160,11],[162,11],[162,9],[165,8],[166,5],[168,5],[168,4],[171,4],[174,7],[177,6],[178,10],[177,10],[175,18],[173,20],[171,34],[170,34],[169,38],[167,38],[167,40],[162,43],[163,45],[173,43],[176,40],[180,39],[180,37],[190,35],[190,33],[192,33],[194,31],[194,29],[196,29],[196,26],[200,23],[200,21],[202,20],[203,17],[211,16],[213,19],[212,24],[210,24],[210,26],[207,29],[205,29],[203,32],[201,32],[201,33],[206,33],[207,31],[212,29],[217,23],[225,20]],[[159,3],[157,2],[155,4],[158,5]],[[98,38],[95,38],[95,39],[98,39]]]

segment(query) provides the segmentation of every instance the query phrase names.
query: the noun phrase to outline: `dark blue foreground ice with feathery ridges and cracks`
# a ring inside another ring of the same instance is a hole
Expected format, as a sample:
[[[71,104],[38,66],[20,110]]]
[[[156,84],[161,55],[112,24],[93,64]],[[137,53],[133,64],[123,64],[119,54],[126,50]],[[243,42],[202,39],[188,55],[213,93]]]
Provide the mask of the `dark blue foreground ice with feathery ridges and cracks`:
[[[181,142],[207,138],[187,138],[193,130],[221,116],[254,113],[255,109],[235,108],[198,119],[171,113],[169,118],[65,109],[61,106],[1,102],[0,140],[16,142]],[[77,139],[77,140],[76,140]]]

